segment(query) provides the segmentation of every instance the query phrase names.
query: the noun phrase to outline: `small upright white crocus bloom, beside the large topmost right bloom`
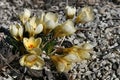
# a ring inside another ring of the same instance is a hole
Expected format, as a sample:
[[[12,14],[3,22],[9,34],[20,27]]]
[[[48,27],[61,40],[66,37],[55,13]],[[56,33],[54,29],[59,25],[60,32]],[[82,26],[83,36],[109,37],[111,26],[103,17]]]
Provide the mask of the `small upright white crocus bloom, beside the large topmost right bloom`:
[[[65,8],[67,18],[73,18],[76,13],[76,8],[71,6],[66,6]]]

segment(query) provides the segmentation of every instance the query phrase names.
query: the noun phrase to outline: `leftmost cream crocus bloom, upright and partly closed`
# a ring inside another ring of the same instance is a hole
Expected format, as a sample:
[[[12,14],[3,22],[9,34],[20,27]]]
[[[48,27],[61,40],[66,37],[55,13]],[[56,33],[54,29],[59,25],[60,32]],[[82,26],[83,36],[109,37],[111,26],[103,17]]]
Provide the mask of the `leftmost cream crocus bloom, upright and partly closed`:
[[[11,25],[10,33],[17,41],[20,41],[23,39],[23,27],[20,24]]]

